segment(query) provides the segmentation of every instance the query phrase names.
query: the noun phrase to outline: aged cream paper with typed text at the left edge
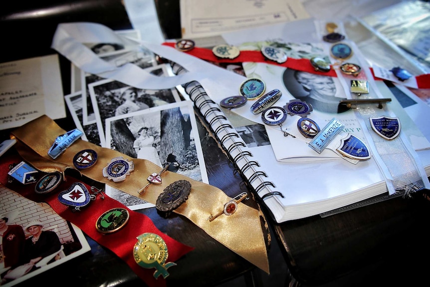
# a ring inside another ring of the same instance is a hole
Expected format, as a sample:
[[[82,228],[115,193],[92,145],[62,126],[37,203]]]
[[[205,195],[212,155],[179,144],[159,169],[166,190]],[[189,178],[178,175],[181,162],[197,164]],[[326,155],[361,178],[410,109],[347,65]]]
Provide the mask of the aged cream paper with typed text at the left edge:
[[[0,129],[66,116],[58,55],[0,64]]]

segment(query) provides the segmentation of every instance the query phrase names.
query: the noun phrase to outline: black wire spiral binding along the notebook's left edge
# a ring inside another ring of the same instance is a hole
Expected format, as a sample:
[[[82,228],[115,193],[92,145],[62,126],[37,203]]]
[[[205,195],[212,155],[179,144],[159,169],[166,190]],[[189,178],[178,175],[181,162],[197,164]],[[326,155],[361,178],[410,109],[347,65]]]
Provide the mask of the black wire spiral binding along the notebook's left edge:
[[[169,62],[175,74],[179,75],[187,72],[181,65],[172,61]],[[252,154],[247,150],[246,144],[219,106],[206,93],[203,86],[197,81],[191,81],[183,84],[182,87],[194,102],[199,113],[209,124],[216,140],[220,142],[221,147],[227,153],[228,159],[233,163],[248,188],[253,190],[254,194],[258,195],[262,202],[269,198],[273,200],[276,196],[284,197],[282,193],[272,190],[276,186],[272,182],[265,180],[267,178],[266,173],[259,170],[259,163],[252,160]]]

